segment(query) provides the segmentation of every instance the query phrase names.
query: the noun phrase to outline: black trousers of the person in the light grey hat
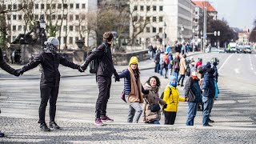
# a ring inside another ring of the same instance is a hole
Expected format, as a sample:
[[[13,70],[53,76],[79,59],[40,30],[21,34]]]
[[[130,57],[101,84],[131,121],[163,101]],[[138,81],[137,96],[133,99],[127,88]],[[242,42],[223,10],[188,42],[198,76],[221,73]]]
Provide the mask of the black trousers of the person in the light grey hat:
[[[41,103],[39,107],[39,121],[38,123],[45,123],[46,120],[46,106],[48,100],[50,100],[50,122],[55,121],[56,114],[56,102],[58,98],[58,87],[59,86],[40,86],[41,91]]]

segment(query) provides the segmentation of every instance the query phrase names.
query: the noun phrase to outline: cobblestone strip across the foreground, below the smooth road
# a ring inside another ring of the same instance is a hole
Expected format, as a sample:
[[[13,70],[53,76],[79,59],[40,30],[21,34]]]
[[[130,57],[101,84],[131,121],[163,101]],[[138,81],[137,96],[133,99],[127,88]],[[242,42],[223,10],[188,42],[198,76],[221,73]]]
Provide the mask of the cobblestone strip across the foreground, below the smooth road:
[[[0,143],[256,143],[256,130],[222,130],[200,127],[106,125],[86,122],[58,122],[62,130],[42,132],[35,119],[0,118],[7,136]]]

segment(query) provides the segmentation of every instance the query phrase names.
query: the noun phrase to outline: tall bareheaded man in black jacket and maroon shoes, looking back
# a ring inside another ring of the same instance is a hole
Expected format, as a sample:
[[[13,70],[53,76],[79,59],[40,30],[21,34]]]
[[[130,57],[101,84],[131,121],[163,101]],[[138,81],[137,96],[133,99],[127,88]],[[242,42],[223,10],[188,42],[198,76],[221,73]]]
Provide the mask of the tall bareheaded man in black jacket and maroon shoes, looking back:
[[[104,126],[103,122],[114,122],[114,119],[111,119],[106,115],[106,106],[110,98],[111,76],[114,74],[115,81],[119,81],[118,73],[114,69],[110,50],[113,41],[114,36],[111,32],[104,33],[102,45],[98,46],[96,50],[88,55],[86,61],[81,65],[82,70],[86,70],[87,66],[94,58],[100,59],[96,74],[99,92],[95,106],[95,126]]]

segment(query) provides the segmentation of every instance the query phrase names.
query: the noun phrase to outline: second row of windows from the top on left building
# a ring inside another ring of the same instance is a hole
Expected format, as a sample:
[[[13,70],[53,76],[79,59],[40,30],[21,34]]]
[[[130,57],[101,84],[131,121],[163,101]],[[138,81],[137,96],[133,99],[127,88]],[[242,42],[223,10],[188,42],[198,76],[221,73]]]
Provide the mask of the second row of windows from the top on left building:
[[[14,14],[12,15],[13,16],[13,20],[22,20],[22,14]],[[40,16],[40,17],[39,17]],[[51,19],[52,20],[55,20],[55,19],[62,19],[62,14],[46,14],[46,20],[49,20],[50,19],[50,16],[51,16]],[[44,17],[44,14],[41,14],[41,15],[38,15],[38,14],[34,14],[34,19],[39,19],[39,18],[42,18]],[[73,20],[80,20],[80,18],[82,20],[85,20],[86,19],[86,14],[70,14],[69,15],[69,20],[70,21],[73,21]],[[7,15],[7,19],[10,20],[11,19],[11,15],[8,14]],[[63,15],[63,19],[66,20],[66,15]]]

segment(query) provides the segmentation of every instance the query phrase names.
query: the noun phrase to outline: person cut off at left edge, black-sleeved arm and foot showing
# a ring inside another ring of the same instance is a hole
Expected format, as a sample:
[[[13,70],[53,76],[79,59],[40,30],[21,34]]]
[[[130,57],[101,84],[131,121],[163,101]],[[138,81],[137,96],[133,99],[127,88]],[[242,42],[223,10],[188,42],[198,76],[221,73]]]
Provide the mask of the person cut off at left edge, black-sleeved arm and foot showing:
[[[0,48],[0,67],[2,70],[5,70],[9,74],[15,75],[16,77],[18,77],[20,75],[18,73],[18,70],[15,70],[14,68],[10,67],[6,63],[5,59],[3,58],[2,48]],[[1,114],[1,109],[0,109],[0,114]],[[5,136],[5,134],[0,131],[0,137],[4,137],[4,136]]]

